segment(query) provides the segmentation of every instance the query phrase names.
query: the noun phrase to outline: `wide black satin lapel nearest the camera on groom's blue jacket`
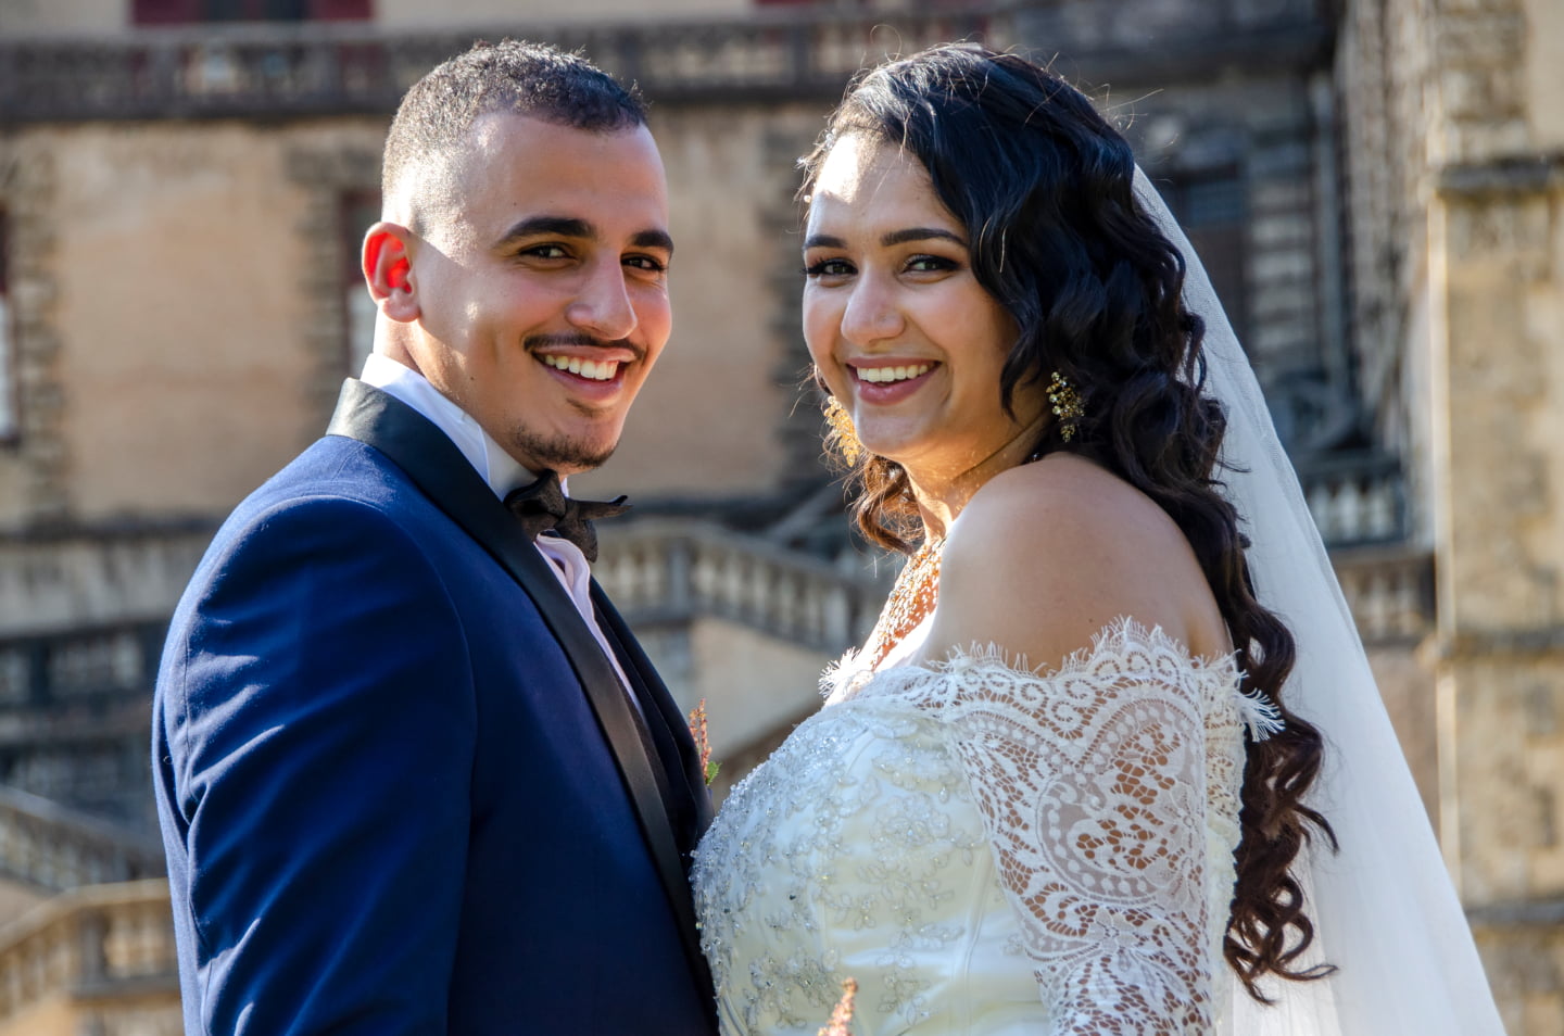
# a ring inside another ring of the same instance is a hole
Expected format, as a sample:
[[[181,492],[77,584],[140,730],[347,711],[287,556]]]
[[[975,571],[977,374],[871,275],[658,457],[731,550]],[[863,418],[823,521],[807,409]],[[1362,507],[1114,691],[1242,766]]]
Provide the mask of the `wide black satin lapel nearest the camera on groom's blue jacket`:
[[[327,435],[358,440],[389,457],[468,535],[493,554],[538,606],[538,613],[576,670],[597,723],[608,739],[641,823],[641,834],[651,848],[652,862],[657,865],[674,914],[682,922],[680,928],[688,928],[680,934],[687,944],[694,944],[699,958],[690,883],[674,842],[657,772],[652,768],[660,768],[660,764],[647,751],[627,690],[621,687],[613,665],[554,576],[549,562],[526,541],[505,505],[444,432],[394,396],[357,379],[347,379]],[[644,659],[638,649],[637,657]],[[666,696],[666,692],[663,695]]]

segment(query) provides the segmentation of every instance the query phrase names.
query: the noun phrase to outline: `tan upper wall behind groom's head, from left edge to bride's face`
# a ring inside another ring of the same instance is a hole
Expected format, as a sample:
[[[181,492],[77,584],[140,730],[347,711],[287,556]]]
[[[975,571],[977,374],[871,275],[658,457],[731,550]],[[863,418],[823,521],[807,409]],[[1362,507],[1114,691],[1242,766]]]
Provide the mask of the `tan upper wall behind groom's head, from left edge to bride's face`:
[[[0,523],[221,515],[324,427],[347,374],[344,192],[378,119],[38,128],[0,152],[23,433]],[[583,484],[737,496],[788,480],[793,158],[812,106],[660,108],[680,243],[674,338],[624,448]]]

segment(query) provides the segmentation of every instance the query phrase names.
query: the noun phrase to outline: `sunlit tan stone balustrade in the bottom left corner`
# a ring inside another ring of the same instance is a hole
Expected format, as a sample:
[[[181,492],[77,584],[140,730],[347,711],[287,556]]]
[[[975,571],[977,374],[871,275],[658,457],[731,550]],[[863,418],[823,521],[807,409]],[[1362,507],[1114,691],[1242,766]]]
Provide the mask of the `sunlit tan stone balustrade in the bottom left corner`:
[[[158,1014],[177,1022],[178,980],[166,881],[66,892],[0,930],[0,1031],[28,1006],[61,994],[91,1005],[95,1016],[111,1014],[116,994],[135,995],[142,1014],[149,1000],[161,998],[166,1006]],[[150,1031],[177,1028],[160,1025]]]

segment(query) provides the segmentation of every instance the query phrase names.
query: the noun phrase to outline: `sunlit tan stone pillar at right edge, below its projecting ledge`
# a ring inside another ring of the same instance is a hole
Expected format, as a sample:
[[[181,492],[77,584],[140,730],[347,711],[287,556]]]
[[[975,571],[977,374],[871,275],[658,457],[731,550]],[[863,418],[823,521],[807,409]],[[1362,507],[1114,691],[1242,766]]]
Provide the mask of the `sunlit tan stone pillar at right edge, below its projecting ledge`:
[[[1506,1022],[1541,1034],[1564,1030],[1564,177],[1484,175],[1429,207],[1444,829]]]

